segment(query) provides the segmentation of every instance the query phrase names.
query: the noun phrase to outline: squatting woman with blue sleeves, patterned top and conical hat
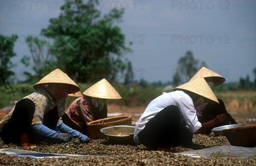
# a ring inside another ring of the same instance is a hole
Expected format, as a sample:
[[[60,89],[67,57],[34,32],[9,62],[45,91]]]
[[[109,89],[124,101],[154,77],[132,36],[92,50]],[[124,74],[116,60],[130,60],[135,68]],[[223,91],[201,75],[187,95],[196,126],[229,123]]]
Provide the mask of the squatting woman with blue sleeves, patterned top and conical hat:
[[[0,137],[5,143],[20,144],[49,139],[58,143],[79,138],[88,142],[86,135],[67,127],[59,119],[65,112],[66,96],[80,90],[67,74],[56,69],[33,86],[37,91],[17,102],[12,111],[0,121]],[[58,122],[59,121],[59,122]]]

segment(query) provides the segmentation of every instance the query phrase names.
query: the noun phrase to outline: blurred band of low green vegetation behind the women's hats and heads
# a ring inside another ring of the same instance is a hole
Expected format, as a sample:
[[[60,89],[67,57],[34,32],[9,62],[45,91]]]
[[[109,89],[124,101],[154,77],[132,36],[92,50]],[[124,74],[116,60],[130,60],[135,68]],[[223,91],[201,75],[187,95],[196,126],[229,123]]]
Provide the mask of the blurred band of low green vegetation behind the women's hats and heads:
[[[92,83],[78,83],[81,92],[89,88]],[[116,91],[122,96],[119,100],[109,100],[109,103],[116,103],[120,105],[142,105],[146,106],[151,100],[161,95],[163,92],[171,92],[174,88],[172,84],[163,84],[161,82],[148,83],[145,80],[134,82],[133,84],[113,84]],[[252,91],[255,92],[256,87],[254,83],[250,83],[246,87],[240,83],[224,83],[212,89],[216,96],[218,93],[229,91]],[[21,99],[30,93],[33,93],[33,84],[4,84],[0,85],[0,108],[8,106],[14,99]],[[239,95],[239,93],[236,93]],[[238,96],[239,97],[239,96]],[[72,102],[75,98],[67,98],[67,104]]]

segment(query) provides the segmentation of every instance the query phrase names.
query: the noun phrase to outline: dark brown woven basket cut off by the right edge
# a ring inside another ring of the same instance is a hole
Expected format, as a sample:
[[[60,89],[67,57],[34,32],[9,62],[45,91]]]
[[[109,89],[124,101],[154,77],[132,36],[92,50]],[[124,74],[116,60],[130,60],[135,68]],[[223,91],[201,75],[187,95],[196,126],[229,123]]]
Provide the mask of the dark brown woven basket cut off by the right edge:
[[[222,131],[227,137],[227,140],[233,146],[256,146],[256,124],[239,126],[232,129],[224,129]]]

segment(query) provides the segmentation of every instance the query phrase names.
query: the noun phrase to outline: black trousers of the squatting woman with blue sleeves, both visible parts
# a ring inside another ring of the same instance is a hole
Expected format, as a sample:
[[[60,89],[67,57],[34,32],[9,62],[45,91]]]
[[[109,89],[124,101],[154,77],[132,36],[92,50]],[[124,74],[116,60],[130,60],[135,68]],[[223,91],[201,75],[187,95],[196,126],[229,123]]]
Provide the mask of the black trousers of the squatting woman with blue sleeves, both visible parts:
[[[35,104],[28,98],[23,98],[17,102],[9,121],[4,124],[0,132],[0,138],[4,143],[20,144],[20,134],[27,132],[30,143],[40,143],[44,136],[33,132],[31,129],[34,118]],[[57,106],[44,114],[43,124],[49,129],[55,129],[58,122]]]

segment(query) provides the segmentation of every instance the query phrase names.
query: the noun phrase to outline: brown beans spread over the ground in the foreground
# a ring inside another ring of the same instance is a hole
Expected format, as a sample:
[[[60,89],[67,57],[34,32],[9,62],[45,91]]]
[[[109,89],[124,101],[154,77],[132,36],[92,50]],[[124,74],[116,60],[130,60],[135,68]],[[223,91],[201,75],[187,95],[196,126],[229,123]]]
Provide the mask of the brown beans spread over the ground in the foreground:
[[[255,113],[232,114],[238,123],[255,124],[251,120]],[[212,152],[210,157],[193,158],[171,152],[151,151],[143,145],[115,145],[110,144],[104,139],[90,140],[90,143],[79,143],[78,139],[73,139],[71,143],[61,144],[39,144],[32,150],[43,153],[64,153],[74,155],[96,155],[94,157],[61,157],[61,158],[30,158],[19,157],[0,153],[1,166],[126,166],[126,165],[170,165],[170,166],[256,166],[256,154],[247,158],[242,158],[221,152]],[[230,145],[225,136],[194,135],[193,142],[202,149]],[[5,144],[0,140],[0,148],[23,149],[13,144]],[[256,147],[254,147],[256,149]],[[177,152],[191,151],[194,149],[182,146],[175,147]],[[102,157],[103,156],[103,157]]]

